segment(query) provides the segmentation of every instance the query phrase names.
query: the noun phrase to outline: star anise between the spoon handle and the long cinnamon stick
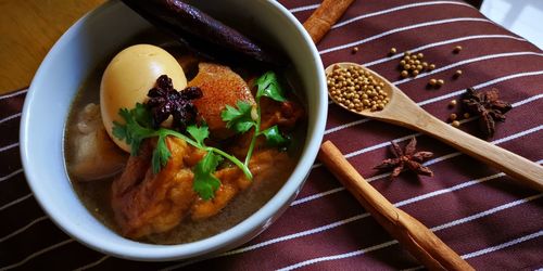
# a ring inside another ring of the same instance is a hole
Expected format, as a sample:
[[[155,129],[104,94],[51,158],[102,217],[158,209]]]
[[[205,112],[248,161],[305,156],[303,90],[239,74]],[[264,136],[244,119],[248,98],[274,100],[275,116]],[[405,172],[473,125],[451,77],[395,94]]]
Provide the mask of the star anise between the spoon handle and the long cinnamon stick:
[[[399,176],[402,170],[408,169],[417,175],[424,175],[432,177],[433,172],[428,167],[422,166],[422,162],[426,158],[432,157],[431,152],[416,152],[417,140],[413,138],[409,143],[405,146],[405,151],[397,145],[395,142],[390,142],[392,144],[391,151],[395,158],[384,159],[381,165],[375,167],[375,169],[390,169],[393,168],[391,178]]]

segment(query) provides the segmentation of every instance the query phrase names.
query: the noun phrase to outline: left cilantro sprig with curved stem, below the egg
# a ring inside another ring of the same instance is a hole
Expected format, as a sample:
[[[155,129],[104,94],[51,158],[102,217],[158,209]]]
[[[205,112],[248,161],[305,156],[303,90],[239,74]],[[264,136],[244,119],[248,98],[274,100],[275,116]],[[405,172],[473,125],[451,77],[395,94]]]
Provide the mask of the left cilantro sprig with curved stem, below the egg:
[[[220,185],[220,181],[213,176],[213,173],[216,171],[216,168],[223,158],[227,158],[238,166],[248,179],[251,180],[253,178],[249,167],[243,165],[243,163],[241,163],[238,158],[219,149],[205,145],[204,140],[210,136],[206,125],[200,127],[195,125],[188,126],[187,132],[190,136],[188,137],[166,128],[153,129],[151,113],[140,103],[136,104],[136,107],[129,111],[127,108],[122,108],[118,114],[124,118],[126,124],[122,125],[113,122],[113,134],[130,145],[131,155],[138,155],[141,142],[144,139],[155,137],[159,138],[156,147],[153,150],[151,158],[153,173],[159,173],[160,170],[167,165],[169,157],[172,156],[172,153],[166,145],[166,137],[168,136],[182,139],[188,144],[207,152],[205,157],[202,158],[193,169],[193,190],[203,199],[213,198],[215,191]]]

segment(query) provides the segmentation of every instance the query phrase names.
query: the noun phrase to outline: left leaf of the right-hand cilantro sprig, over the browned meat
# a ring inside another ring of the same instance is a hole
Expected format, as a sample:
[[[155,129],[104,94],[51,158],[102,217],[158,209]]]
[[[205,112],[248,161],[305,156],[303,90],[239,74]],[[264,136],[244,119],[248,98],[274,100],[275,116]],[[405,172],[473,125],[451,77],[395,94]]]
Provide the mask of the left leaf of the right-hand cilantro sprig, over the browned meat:
[[[228,129],[243,133],[256,126],[255,120],[251,116],[253,106],[243,101],[238,101],[236,105],[237,108],[226,105],[226,108],[220,113],[220,117],[226,121],[226,127]]]

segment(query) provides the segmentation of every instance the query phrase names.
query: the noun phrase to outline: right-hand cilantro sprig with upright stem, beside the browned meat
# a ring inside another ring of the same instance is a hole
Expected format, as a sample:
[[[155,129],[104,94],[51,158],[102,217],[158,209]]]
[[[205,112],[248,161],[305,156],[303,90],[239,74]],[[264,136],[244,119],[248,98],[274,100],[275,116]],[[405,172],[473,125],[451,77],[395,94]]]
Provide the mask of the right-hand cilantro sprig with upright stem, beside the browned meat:
[[[280,146],[289,143],[289,139],[281,136],[277,126],[273,126],[264,131],[261,131],[261,98],[267,96],[277,102],[287,101],[281,85],[277,80],[276,74],[274,72],[267,72],[256,79],[255,85],[257,87],[256,119],[252,117],[253,106],[248,102],[242,101],[238,101],[236,107],[227,105],[220,114],[223,120],[226,121],[226,127],[238,133],[244,133],[254,127],[253,138],[251,139],[245,162],[243,163],[245,167],[249,166],[249,162],[251,160],[257,137],[264,136],[266,138],[266,143],[273,146]]]

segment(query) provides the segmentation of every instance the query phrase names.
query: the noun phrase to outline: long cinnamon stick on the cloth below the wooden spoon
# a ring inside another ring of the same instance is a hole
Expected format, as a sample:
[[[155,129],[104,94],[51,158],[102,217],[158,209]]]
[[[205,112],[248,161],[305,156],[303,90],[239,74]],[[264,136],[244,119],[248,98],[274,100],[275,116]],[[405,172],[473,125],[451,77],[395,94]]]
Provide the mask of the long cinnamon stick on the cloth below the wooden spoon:
[[[375,190],[331,143],[320,146],[318,158],[374,218],[430,270],[475,270],[432,231],[394,207]]]

